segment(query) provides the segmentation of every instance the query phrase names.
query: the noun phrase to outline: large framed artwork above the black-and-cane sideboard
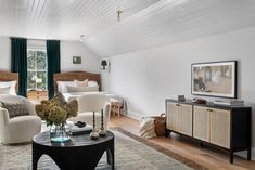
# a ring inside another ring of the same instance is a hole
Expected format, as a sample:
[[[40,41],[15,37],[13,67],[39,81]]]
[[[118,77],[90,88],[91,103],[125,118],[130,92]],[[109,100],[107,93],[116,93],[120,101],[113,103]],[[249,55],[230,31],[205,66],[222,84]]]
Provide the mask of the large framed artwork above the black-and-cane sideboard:
[[[237,97],[237,61],[191,65],[191,93]]]

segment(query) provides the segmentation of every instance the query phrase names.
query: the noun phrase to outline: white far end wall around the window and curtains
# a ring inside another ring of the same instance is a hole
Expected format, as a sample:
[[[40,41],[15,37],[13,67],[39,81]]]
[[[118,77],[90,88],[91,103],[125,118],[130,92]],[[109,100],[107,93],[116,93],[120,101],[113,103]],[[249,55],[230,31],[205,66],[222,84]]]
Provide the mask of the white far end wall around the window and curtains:
[[[28,47],[46,48],[43,40],[28,40]],[[81,56],[81,64],[73,64],[73,56]],[[11,69],[11,40],[0,37],[0,70]],[[85,44],[77,41],[61,41],[61,71],[87,70],[100,73],[100,60]]]

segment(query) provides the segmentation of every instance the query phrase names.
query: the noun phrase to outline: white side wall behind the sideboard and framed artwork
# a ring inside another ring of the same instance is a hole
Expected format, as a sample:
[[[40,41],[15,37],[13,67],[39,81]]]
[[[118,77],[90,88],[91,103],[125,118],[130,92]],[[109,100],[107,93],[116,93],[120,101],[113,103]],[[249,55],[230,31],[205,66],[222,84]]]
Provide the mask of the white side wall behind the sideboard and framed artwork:
[[[104,89],[126,97],[130,115],[156,115],[165,112],[171,94],[190,96],[192,63],[228,60],[238,61],[238,97],[255,110],[255,27],[110,60],[111,73],[102,74]]]

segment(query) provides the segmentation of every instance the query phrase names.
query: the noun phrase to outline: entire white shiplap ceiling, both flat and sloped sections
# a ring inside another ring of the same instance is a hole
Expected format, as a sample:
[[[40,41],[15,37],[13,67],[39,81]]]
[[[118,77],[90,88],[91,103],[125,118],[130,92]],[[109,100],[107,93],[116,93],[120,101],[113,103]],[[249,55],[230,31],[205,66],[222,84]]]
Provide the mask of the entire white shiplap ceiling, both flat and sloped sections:
[[[101,57],[251,26],[255,0],[0,0],[0,36],[85,35],[85,44]]]

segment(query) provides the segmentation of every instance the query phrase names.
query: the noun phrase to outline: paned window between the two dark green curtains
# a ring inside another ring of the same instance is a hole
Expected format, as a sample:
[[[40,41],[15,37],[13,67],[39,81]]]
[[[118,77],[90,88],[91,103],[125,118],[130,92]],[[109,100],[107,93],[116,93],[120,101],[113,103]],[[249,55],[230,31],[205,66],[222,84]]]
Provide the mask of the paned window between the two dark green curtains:
[[[27,90],[47,90],[47,52],[27,49]]]

